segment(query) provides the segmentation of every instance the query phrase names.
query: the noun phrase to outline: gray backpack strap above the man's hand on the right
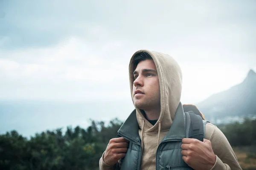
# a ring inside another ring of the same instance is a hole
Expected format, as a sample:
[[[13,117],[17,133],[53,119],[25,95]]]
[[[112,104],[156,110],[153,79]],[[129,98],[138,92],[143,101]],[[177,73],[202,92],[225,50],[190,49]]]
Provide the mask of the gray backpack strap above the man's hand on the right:
[[[185,112],[186,115],[186,138],[194,138],[204,141],[205,124],[201,116],[192,111]]]

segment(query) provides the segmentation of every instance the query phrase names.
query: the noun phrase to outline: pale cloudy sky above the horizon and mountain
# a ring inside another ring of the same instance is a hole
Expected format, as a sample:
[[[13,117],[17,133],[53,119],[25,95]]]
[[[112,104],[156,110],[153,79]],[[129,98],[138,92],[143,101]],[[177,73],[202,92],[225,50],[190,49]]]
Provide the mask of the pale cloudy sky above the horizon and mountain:
[[[131,101],[129,60],[149,49],[200,102],[256,71],[255,16],[255,0],[0,0],[0,99]]]

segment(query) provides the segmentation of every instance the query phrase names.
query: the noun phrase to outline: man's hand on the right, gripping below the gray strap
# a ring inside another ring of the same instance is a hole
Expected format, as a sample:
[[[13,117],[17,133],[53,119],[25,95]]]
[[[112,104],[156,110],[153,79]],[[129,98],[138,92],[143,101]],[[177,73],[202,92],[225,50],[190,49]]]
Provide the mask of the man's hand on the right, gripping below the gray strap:
[[[212,150],[212,144],[204,139],[201,142],[197,139],[182,139],[182,159],[194,170],[210,170],[215,164],[216,156]]]

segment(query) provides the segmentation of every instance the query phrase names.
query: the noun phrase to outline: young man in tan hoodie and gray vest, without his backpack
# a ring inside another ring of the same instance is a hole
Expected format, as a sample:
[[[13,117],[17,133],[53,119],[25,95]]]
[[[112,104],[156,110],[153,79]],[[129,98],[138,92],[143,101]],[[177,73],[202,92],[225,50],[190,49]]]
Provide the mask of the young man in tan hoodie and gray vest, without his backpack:
[[[216,126],[206,124],[203,142],[186,138],[182,74],[172,57],[137,51],[129,75],[135,110],[110,140],[100,170],[241,170]]]

